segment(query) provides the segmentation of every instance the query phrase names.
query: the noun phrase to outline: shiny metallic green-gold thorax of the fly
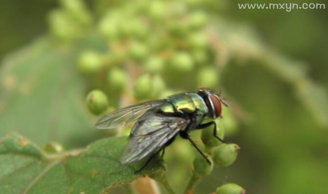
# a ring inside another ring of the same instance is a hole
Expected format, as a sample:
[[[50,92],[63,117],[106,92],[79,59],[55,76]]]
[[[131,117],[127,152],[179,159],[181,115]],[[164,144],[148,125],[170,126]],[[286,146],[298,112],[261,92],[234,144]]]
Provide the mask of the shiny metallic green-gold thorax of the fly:
[[[179,94],[168,97],[166,102],[160,106],[160,110],[164,114],[190,114],[207,115],[208,108],[202,97],[195,93]]]

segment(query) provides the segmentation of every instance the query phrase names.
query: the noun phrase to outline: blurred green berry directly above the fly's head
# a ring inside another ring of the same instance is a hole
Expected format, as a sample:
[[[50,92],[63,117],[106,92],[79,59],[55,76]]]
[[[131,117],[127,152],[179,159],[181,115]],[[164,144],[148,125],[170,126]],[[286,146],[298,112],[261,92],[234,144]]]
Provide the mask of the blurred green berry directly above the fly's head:
[[[215,88],[218,84],[218,72],[215,67],[203,67],[196,75],[197,87]]]

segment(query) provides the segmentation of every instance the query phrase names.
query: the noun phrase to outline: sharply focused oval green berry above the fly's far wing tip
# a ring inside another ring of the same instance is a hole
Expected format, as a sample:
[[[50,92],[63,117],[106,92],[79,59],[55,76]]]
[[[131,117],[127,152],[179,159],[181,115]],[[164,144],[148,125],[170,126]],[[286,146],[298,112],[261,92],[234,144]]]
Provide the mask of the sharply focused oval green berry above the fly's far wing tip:
[[[107,109],[108,99],[102,91],[93,90],[88,94],[86,103],[90,112],[98,115]]]

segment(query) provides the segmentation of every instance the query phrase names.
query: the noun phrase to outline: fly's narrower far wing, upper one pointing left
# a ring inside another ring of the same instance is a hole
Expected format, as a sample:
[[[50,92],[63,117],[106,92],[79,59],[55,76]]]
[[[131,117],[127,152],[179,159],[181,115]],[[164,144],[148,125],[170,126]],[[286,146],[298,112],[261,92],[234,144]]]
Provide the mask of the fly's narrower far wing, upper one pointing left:
[[[124,126],[137,121],[146,111],[161,105],[163,102],[164,100],[154,100],[118,109],[97,121],[95,127],[109,129]]]

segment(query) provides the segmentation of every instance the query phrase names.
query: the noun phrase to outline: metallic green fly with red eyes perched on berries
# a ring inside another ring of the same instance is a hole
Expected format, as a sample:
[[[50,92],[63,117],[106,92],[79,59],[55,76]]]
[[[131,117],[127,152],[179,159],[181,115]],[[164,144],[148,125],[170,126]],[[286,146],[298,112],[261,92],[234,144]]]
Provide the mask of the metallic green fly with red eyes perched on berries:
[[[96,124],[98,129],[109,129],[135,122],[129,142],[120,157],[121,164],[130,164],[150,156],[141,169],[170,145],[177,135],[187,139],[198,152],[211,164],[210,160],[189,137],[188,132],[213,125],[213,136],[216,135],[214,121],[202,123],[206,118],[220,117],[223,99],[208,88],[200,88],[197,93],[184,93],[165,99],[143,102],[118,109],[101,118]]]

